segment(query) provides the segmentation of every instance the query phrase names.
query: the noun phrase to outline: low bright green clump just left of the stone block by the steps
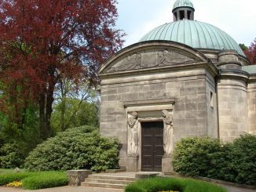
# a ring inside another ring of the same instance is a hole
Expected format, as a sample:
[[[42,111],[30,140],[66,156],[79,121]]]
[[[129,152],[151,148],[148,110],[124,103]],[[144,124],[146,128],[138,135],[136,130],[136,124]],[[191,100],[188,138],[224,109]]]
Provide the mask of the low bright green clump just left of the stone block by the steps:
[[[27,190],[38,190],[50,187],[68,185],[68,176],[65,172],[38,172],[21,180],[22,187]]]

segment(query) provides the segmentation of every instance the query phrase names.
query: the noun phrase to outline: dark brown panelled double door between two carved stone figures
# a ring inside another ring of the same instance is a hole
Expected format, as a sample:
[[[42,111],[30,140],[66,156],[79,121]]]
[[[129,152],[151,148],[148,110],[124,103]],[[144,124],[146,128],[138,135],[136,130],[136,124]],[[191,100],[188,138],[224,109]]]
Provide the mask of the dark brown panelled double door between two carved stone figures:
[[[141,171],[161,172],[163,121],[141,122]]]

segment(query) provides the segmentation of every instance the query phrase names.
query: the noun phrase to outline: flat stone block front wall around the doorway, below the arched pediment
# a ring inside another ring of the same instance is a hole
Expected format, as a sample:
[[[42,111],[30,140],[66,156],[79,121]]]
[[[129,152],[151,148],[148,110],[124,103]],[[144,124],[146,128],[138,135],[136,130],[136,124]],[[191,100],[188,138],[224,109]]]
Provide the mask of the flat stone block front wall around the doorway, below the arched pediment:
[[[214,136],[213,133],[207,132],[207,127],[212,128],[217,124],[215,118],[210,117],[216,114],[215,110],[208,115],[209,109],[206,104],[209,102],[208,90],[214,92],[213,85],[209,83],[212,80],[207,80],[209,77],[207,70],[199,68],[102,78],[101,135],[118,137],[123,143],[119,164],[126,165],[127,111],[124,107],[126,102],[174,99],[175,142],[187,136]],[[155,111],[156,116],[159,114],[160,111]]]

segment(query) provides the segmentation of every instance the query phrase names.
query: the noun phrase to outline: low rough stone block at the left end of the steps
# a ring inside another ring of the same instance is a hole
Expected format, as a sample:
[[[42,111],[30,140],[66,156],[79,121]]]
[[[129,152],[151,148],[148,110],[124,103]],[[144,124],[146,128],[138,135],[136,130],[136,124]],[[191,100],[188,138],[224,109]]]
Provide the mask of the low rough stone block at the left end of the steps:
[[[68,185],[69,186],[80,186],[81,183],[92,174],[91,170],[69,170],[68,174]]]

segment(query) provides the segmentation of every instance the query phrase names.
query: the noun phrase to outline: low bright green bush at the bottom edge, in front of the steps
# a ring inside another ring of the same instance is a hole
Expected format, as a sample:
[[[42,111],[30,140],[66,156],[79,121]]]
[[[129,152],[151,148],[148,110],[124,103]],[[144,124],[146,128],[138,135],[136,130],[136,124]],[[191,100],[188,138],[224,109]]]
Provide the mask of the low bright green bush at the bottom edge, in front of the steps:
[[[152,178],[131,183],[126,192],[155,192],[177,190],[180,192],[226,192],[224,188],[194,179]]]

